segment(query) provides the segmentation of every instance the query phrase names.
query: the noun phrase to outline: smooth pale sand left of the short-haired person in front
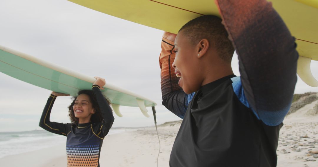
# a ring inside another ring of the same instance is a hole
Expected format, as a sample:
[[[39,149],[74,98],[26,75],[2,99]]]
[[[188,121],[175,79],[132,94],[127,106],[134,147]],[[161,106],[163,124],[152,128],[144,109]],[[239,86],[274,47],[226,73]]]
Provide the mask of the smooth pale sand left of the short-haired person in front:
[[[161,142],[158,166],[169,166],[171,148],[181,121],[158,126]],[[159,142],[155,127],[107,135],[100,154],[100,166],[156,166]],[[2,167],[66,166],[65,145],[0,158]]]

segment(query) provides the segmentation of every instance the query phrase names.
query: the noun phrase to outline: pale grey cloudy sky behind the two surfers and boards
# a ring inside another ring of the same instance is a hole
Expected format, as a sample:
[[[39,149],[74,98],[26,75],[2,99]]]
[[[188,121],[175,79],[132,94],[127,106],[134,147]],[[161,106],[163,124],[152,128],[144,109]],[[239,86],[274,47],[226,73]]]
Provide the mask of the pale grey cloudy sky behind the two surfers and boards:
[[[158,105],[158,124],[180,120],[161,105],[162,31],[88,9],[66,0],[0,1],[0,45],[80,72],[145,96]],[[239,75],[237,56],[232,66]],[[311,70],[318,78],[318,62]],[[50,90],[0,73],[0,132],[40,129]],[[318,92],[298,79],[295,93]],[[51,121],[69,122],[70,97],[58,97]],[[139,108],[120,107],[114,127],[154,124]],[[148,108],[151,114],[151,108]]]

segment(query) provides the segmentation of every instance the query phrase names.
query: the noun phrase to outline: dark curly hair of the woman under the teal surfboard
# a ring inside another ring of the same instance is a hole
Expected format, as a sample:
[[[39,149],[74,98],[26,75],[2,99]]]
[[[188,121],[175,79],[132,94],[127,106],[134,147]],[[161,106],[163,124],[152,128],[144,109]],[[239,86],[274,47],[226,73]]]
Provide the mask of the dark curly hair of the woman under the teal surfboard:
[[[92,114],[91,122],[97,123],[97,122],[103,121],[104,118],[103,118],[103,115],[101,114],[100,107],[98,105],[98,102],[97,102],[97,99],[94,95],[93,90],[80,90],[78,95],[80,95],[80,94],[88,95],[89,100],[92,102],[93,108],[95,108],[95,114]],[[73,106],[74,106],[74,103],[75,103],[77,96],[72,98],[73,102],[68,106],[68,116],[70,117],[71,123],[76,124],[76,125],[79,123],[79,119],[75,117]],[[105,96],[104,96],[104,98],[107,101],[107,103],[110,104],[109,100]]]

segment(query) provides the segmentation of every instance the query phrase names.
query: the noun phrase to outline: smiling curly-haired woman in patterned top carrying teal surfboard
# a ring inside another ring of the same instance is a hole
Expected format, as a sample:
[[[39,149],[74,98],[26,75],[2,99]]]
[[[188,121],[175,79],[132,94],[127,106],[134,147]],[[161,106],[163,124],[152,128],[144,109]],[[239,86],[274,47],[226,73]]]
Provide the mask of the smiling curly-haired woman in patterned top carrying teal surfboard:
[[[105,79],[95,77],[92,90],[81,90],[74,97],[69,109],[72,123],[50,121],[52,105],[57,96],[69,96],[52,92],[43,110],[39,126],[43,129],[64,135],[66,139],[67,166],[99,167],[100,148],[104,137],[114,122],[109,102],[101,94]]]

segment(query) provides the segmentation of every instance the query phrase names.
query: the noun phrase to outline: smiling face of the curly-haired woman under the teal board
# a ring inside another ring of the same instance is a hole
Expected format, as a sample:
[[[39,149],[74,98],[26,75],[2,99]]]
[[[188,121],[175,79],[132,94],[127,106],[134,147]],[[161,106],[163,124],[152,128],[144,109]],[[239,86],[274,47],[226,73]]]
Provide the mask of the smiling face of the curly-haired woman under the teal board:
[[[74,106],[74,114],[76,118],[79,118],[81,121],[90,121],[92,114],[95,113],[92,102],[89,99],[89,96],[86,94],[80,94],[77,96]]]

